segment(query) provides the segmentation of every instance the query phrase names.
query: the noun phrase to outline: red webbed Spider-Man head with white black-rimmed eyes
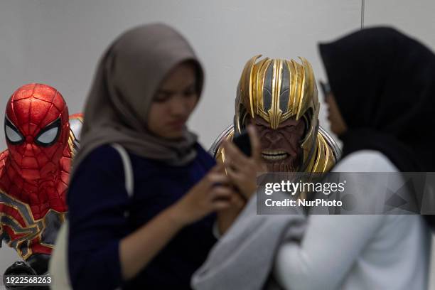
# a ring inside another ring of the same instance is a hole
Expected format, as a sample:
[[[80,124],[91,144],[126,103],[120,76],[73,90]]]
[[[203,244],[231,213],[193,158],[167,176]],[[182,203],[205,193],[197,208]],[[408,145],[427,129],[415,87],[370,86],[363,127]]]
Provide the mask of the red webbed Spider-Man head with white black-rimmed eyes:
[[[47,178],[58,171],[68,144],[68,107],[54,87],[19,87],[6,105],[6,144],[12,166],[25,179]]]

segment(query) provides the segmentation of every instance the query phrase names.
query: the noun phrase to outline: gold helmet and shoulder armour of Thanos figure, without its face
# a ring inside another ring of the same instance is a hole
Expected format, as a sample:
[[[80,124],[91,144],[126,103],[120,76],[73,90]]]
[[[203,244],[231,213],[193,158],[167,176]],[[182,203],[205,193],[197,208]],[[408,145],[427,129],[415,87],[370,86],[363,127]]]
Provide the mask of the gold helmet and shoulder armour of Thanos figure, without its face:
[[[318,124],[320,104],[313,68],[305,58],[299,58],[299,63],[279,58],[259,59],[261,56],[255,55],[243,68],[237,85],[234,124],[213,144],[213,156],[225,161],[222,141],[240,134],[249,117],[259,116],[276,131],[285,130],[279,128],[279,124],[294,117],[304,120],[305,124],[298,156],[301,162],[296,170],[328,171],[340,156],[340,150]]]

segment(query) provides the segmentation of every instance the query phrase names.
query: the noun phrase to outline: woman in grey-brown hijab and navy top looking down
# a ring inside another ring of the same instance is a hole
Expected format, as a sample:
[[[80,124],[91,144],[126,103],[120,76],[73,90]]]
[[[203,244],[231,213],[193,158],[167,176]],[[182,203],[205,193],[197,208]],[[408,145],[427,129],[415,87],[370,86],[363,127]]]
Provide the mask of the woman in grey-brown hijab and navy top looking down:
[[[228,178],[186,127],[202,88],[193,50],[168,26],[131,29],[104,53],[68,193],[74,289],[188,289],[215,220],[223,231],[240,209],[230,184],[252,193],[254,131],[255,157],[237,152],[245,166]]]

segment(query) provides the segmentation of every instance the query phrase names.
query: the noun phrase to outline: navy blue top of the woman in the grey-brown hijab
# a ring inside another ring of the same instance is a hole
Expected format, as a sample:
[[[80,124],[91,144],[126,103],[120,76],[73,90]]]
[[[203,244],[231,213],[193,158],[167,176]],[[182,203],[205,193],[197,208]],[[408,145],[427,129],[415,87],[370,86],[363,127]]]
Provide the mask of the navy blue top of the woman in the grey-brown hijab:
[[[175,203],[213,167],[214,159],[199,144],[196,148],[198,155],[186,166],[129,154],[131,200],[121,156],[112,146],[100,146],[80,163],[68,192],[68,263],[74,289],[190,289],[190,277],[216,241],[215,215],[184,227],[129,281],[122,280],[119,241]]]

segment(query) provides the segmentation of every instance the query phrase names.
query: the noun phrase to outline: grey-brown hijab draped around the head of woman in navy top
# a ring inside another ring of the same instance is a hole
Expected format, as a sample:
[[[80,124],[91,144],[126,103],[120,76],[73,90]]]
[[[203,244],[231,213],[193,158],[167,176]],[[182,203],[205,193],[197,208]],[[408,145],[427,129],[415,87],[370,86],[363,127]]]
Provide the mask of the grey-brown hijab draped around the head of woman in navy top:
[[[147,129],[156,90],[168,72],[186,60],[195,63],[200,95],[203,69],[186,39],[173,28],[144,25],[119,36],[98,65],[73,168],[97,146],[112,143],[173,166],[192,161],[196,156],[195,134],[185,129],[182,138],[168,140]]]

